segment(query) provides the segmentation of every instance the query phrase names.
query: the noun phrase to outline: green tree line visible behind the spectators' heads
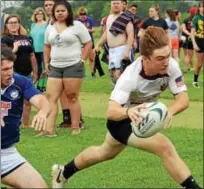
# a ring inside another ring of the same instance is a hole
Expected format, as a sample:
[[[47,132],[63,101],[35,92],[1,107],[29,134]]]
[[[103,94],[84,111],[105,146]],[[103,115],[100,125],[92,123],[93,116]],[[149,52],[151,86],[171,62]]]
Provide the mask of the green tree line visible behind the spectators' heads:
[[[3,10],[4,13],[8,14],[18,14],[21,19],[23,26],[26,29],[30,29],[31,25],[31,16],[33,14],[33,11],[37,7],[43,7],[43,1],[27,1],[24,0],[21,6],[15,7],[15,3],[18,3],[15,1],[13,3],[13,6],[9,8],[5,8]],[[73,11],[75,16],[77,16],[77,10],[81,6],[85,6],[88,10],[88,15],[92,17],[96,24],[99,26],[101,19],[109,14],[110,11],[110,1],[104,0],[75,0],[71,2]],[[191,6],[195,6],[197,4],[196,1],[191,2],[185,2],[185,1],[146,1],[146,0],[140,0],[140,1],[128,1],[128,4],[137,4],[138,9],[137,13],[141,18],[148,17],[148,9],[151,5],[157,4],[160,6],[161,14],[164,17],[165,10],[167,8],[174,8],[178,9],[182,13],[182,19],[187,17],[188,10]]]

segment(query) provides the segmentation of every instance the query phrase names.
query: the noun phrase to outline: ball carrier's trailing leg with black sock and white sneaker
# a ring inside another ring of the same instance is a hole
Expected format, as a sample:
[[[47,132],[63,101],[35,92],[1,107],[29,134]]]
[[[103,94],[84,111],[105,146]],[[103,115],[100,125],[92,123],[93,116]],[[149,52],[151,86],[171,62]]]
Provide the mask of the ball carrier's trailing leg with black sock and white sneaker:
[[[67,182],[67,179],[78,170],[82,170],[103,161],[111,160],[124,148],[125,145],[116,141],[108,132],[101,146],[91,146],[85,149],[65,166],[53,166],[53,188],[62,188],[65,182]]]

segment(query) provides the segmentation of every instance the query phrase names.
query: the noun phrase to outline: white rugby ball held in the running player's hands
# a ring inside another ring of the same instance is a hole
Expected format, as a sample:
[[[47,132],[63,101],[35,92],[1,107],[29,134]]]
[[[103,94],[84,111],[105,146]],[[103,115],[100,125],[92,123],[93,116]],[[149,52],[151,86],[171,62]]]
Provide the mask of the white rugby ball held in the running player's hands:
[[[139,124],[131,122],[132,132],[140,138],[151,137],[158,133],[165,124],[168,109],[161,102],[146,103],[147,109],[141,112],[143,121]]]

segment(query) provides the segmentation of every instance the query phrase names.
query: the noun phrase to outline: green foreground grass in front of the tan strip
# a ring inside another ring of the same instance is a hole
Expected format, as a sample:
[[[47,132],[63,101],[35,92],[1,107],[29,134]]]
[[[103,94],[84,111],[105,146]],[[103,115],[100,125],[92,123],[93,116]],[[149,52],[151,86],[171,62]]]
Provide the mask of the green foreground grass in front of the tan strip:
[[[61,116],[58,117],[58,120]],[[87,128],[80,136],[68,129],[57,129],[57,138],[33,137],[31,129],[23,129],[19,151],[51,183],[50,168],[54,163],[67,163],[91,145],[100,145],[106,133],[106,120],[85,117]],[[203,140],[201,129],[173,128],[165,131],[175,144],[197,181],[203,183]],[[134,148],[126,148],[116,159],[76,174],[70,188],[178,188],[168,176],[160,159]]]

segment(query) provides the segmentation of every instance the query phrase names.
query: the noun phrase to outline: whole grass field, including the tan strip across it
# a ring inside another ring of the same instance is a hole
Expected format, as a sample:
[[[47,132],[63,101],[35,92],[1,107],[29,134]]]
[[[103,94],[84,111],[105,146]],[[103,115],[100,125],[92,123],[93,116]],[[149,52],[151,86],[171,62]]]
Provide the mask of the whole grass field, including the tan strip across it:
[[[182,67],[183,63],[181,63]],[[84,80],[80,99],[86,129],[78,136],[71,136],[69,129],[57,129],[56,138],[35,137],[32,129],[21,130],[21,142],[17,145],[21,154],[51,184],[51,166],[65,164],[90,145],[100,145],[106,134],[106,109],[112,85],[107,65],[106,75]],[[190,107],[175,116],[173,127],[163,133],[175,144],[180,156],[192,170],[193,176],[203,185],[203,75],[200,89],[192,87],[193,72],[185,75],[189,90]],[[172,102],[170,92],[161,96],[166,104]],[[34,114],[34,112],[33,112]],[[61,122],[59,114],[57,122]],[[77,173],[65,185],[69,188],[181,188],[162,167],[160,159],[137,149],[126,148],[116,159]]]

